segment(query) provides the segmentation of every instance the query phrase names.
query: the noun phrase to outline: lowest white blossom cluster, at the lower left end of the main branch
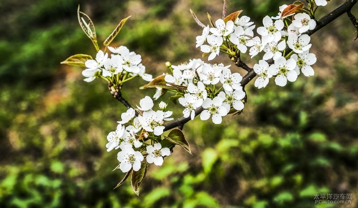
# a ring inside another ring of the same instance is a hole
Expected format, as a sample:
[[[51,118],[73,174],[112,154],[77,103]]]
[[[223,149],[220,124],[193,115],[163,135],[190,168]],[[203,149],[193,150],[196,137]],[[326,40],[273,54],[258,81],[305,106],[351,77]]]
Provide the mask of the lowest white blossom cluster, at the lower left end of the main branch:
[[[160,143],[149,145],[145,141],[149,137],[155,138],[163,134],[164,121],[172,120],[169,118],[171,111],[164,111],[167,104],[161,102],[157,111],[152,110],[154,107],[153,100],[146,96],[140,100],[141,114],[137,117],[135,109],[128,109],[122,113],[121,121],[118,121],[117,130],[110,132],[107,136],[107,151],[121,149],[117,159],[120,162],[119,169],[128,172],[131,169],[138,171],[141,168],[141,162],[144,160],[142,152],[146,151],[146,160],[148,163],[162,165],[163,157],[170,155],[169,148],[162,148]],[[129,123],[126,127],[125,124]]]

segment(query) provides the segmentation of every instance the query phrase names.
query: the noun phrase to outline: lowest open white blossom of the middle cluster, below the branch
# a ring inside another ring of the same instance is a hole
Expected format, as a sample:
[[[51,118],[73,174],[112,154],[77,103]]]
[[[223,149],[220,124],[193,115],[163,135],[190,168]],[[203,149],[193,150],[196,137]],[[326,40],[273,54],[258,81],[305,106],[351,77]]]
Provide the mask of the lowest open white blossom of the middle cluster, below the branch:
[[[228,114],[226,107],[222,106],[222,99],[220,97],[214,97],[214,99],[207,98],[203,102],[203,108],[205,109],[200,114],[200,119],[208,120],[210,117],[215,124],[220,124],[222,122],[222,116]]]

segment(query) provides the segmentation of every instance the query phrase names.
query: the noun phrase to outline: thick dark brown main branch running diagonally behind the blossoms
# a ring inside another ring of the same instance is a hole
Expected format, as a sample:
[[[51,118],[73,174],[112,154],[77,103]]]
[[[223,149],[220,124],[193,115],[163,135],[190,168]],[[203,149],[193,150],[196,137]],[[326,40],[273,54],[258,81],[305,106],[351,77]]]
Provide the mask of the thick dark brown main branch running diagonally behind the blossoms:
[[[308,34],[308,35],[314,34],[318,30],[320,30],[321,28],[326,26],[328,23],[332,22],[334,19],[338,18],[339,16],[341,16],[344,13],[346,13],[347,11],[350,11],[351,8],[357,3],[357,1],[358,0],[346,0],[339,7],[335,8],[333,11],[329,12],[328,14],[324,15],[321,19],[319,19],[316,28],[306,32],[305,34]],[[287,47],[286,48],[286,53],[289,53],[290,51],[291,51],[291,49],[289,49]],[[270,59],[267,62],[269,64],[273,64],[274,60]],[[248,73],[245,74],[245,76],[242,77],[242,80],[240,82],[241,86],[243,86],[243,87],[245,85],[247,85],[256,76],[256,73],[254,72],[254,70],[252,70],[250,67],[248,67],[248,68],[249,68]],[[196,109],[195,110],[195,116],[197,116],[200,113],[202,113],[203,110],[204,109],[202,107]],[[178,119],[176,119],[174,121],[171,121],[171,122],[169,122],[169,123],[164,125],[164,127],[165,127],[164,131],[168,131],[168,130],[173,129],[175,127],[179,127],[179,126],[187,123],[189,120],[190,120],[190,116],[188,118],[181,117],[181,118],[178,118]]]

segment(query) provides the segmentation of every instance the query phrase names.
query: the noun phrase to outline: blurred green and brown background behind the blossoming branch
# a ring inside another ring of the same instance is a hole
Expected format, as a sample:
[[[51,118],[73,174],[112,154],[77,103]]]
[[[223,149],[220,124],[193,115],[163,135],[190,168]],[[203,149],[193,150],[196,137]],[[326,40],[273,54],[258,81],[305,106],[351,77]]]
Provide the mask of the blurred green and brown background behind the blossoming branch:
[[[284,3],[293,1],[229,0],[228,13],[243,9],[260,26]],[[117,153],[105,148],[124,107],[102,80],[87,84],[80,68],[59,64],[72,54],[95,55],[78,25],[78,4],[100,42],[132,15],[114,45],[141,54],[154,76],[166,70],[165,61],[201,57],[195,36],[202,29],[189,8],[205,24],[206,11],[217,19],[222,9],[220,0],[2,1],[0,206],[315,207],[320,193],[352,193],[345,207],[358,206],[358,42],[346,15],[312,36],[314,77],[301,75],[284,88],[271,80],[261,90],[252,82],[241,115],[216,126],[198,118],[187,123],[193,155],[176,147],[163,167],[150,165],[137,197],[129,180],[113,190],[124,174],[112,171]],[[223,55],[215,61],[232,64]],[[144,83],[124,86],[124,97],[137,103],[152,96],[138,89]]]

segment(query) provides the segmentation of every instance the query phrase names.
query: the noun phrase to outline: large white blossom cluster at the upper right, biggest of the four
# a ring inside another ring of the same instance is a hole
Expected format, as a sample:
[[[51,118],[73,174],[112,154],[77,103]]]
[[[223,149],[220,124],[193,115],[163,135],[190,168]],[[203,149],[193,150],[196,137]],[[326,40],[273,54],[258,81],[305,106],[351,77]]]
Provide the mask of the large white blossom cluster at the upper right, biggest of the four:
[[[325,6],[327,2],[316,0],[316,4]],[[263,51],[262,60],[253,67],[258,75],[255,81],[257,88],[266,87],[272,77],[275,77],[276,85],[283,87],[287,80],[296,81],[300,72],[305,76],[312,76],[315,72],[311,65],[316,63],[317,58],[315,54],[309,53],[310,37],[304,33],[315,29],[316,20],[307,13],[299,12],[287,15],[293,15],[293,18],[281,17],[287,7],[282,5],[277,17],[263,18],[263,26],[256,30],[259,36],[254,36],[253,30],[256,26],[250,22],[248,16],[237,17],[234,21],[227,22],[217,19],[215,26],[205,27],[202,35],[196,37],[196,47],[210,54],[209,60],[219,55],[220,51],[230,57],[247,51],[254,57]],[[267,62],[268,60],[270,62]],[[224,88],[225,86],[224,84]]]

